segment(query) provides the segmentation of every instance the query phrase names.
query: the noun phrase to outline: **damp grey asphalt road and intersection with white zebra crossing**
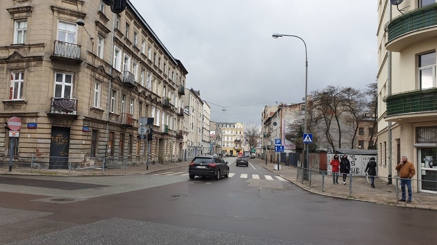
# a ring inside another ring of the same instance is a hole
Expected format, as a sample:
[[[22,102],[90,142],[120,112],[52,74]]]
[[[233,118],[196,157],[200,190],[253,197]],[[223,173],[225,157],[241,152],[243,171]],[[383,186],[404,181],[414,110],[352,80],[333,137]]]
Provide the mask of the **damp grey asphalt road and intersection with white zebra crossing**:
[[[0,243],[435,244],[435,211],[315,195],[234,159],[218,181],[0,175]]]

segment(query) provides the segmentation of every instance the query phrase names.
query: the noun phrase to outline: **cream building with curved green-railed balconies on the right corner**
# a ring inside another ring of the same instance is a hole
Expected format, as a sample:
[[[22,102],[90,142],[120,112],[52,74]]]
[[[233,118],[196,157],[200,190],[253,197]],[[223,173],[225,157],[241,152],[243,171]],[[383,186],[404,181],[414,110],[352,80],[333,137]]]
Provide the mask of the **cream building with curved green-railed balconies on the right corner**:
[[[395,176],[406,155],[414,179],[437,181],[437,4],[378,4],[378,174]],[[437,193],[420,183],[416,191]]]

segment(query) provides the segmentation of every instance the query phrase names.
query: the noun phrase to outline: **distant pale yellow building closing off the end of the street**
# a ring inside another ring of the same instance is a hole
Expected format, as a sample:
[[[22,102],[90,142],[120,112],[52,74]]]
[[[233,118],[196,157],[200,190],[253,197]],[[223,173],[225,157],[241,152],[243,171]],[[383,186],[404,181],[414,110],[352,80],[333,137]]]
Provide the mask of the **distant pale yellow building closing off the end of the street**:
[[[216,122],[222,129],[222,154],[243,154],[244,123]]]

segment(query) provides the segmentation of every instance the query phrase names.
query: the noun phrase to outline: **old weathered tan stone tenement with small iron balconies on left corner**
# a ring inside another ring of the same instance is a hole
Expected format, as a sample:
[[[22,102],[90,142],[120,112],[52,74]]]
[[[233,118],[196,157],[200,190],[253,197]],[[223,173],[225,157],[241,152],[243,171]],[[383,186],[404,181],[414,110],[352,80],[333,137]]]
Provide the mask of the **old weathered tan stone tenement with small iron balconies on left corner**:
[[[141,160],[142,117],[154,118],[151,159],[182,159],[188,72],[129,1],[121,14],[102,1],[1,3],[0,117],[23,124],[13,152],[0,129],[0,161]]]

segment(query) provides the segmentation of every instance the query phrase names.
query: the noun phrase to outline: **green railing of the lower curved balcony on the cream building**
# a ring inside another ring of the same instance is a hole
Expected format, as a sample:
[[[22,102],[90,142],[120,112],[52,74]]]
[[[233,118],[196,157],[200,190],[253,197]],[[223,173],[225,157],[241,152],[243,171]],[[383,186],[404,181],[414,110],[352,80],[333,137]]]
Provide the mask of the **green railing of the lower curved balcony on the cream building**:
[[[437,111],[437,88],[385,96],[387,116]]]

